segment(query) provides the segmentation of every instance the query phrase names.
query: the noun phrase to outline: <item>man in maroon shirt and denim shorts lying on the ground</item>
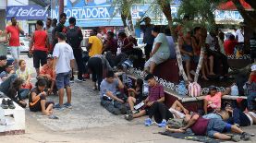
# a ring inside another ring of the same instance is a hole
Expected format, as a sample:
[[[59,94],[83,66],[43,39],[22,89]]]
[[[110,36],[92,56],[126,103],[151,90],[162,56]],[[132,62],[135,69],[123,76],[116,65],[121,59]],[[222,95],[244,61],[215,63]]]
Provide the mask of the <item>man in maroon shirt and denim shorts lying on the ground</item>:
[[[167,126],[166,130],[173,133],[185,133],[187,129],[191,129],[196,136],[207,136],[221,140],[233,140],[238,142],[240,139],[249,140],[250,134],[241,130],[237,125],[230,125],[221,119],[205,119],[197,113],[192,115],[186,114],[184,122],[187,124],[179,129],[170,128]],[[238,133],[240,136],[228,136],[225,132]]]

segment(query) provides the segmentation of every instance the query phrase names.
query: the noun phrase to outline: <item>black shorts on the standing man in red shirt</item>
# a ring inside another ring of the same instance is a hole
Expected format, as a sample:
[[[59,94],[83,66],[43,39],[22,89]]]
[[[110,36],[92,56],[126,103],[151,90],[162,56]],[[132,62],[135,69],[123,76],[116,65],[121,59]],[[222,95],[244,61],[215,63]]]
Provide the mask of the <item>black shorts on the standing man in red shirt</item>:
[[[33,52],[33,64],[35,68],[39,68],[47,63],[47,53],[45,51],[35,50]]]

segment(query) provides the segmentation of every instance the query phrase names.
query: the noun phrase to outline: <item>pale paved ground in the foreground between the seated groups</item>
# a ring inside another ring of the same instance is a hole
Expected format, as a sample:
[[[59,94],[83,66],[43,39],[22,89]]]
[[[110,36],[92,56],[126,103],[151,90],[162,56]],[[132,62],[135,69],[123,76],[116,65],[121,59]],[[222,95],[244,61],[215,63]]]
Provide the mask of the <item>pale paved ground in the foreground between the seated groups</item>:
[[[21,56],[32,66],[32,59]],[[91,81],[72,84],[73,109],[55,111],[59,120],[51,120],[42,113],[30,113],[26,109],[26,134],[0,137],[1,143],[74,142],[74,143],[165,143],[191,142],[158,133],[164,129],[152,125],[145,127],[145,118],[128,122],[122,115],[113,115],[101,107],[99,93],[91,89]],[[49,101],[58,101],[49,97]],[[65,99],[66,100],[66,99]],[[246,131],[256,133],[255,125]],[[255,137],[248,142],[256,142]]]

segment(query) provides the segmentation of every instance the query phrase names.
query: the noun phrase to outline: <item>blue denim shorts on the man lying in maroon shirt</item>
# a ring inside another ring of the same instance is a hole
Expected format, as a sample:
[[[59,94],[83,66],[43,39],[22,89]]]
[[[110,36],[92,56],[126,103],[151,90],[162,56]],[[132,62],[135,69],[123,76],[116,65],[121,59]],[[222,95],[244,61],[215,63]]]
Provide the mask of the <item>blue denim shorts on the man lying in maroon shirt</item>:
[[[210,119],[207,129],[206,135],[208,137],[213,137],[215,133],[223,133],[224,131],[230,131],[231,125],[224,122],[222,119]]]

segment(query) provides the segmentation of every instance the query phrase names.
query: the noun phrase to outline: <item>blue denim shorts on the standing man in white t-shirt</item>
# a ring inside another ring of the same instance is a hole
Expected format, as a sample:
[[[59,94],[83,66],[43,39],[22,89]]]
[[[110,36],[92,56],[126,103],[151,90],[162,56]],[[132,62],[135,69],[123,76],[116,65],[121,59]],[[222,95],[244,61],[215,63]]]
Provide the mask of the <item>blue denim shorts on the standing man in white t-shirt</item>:
[[[64,89],[66,87],[70,87],[70,73],[59,73],[56,75],[55,82],[57,89]]]

